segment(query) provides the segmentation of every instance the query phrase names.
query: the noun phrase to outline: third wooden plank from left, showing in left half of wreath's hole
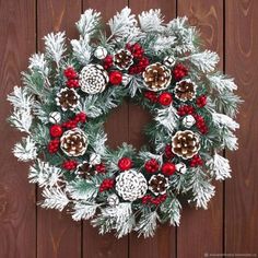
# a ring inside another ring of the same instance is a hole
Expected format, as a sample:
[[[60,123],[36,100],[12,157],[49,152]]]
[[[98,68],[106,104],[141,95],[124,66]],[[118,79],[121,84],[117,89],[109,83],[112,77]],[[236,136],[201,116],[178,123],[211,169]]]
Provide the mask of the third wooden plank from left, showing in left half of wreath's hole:
[[[117,11],[127,5],[127,0],[84,0],[83,10],[89,8],[102,12],[104,22],[107,22]],[[106,132],[108,144],[112,148],[128,141],[128,104],[116,108],[107,119]],[[87,222],[83,226],[83,257],[84,258],[126,258],[128,257],[128,237],[117,239],[114,235],[98,235]]]

